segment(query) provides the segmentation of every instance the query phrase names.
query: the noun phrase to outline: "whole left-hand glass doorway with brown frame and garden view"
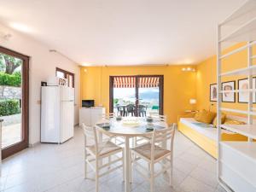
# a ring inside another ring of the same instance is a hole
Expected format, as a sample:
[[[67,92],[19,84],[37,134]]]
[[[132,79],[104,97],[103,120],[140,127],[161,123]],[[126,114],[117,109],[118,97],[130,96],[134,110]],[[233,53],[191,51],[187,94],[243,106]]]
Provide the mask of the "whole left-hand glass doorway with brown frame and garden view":
[[[29,57],[0,47],[2,159],[28,147]]]

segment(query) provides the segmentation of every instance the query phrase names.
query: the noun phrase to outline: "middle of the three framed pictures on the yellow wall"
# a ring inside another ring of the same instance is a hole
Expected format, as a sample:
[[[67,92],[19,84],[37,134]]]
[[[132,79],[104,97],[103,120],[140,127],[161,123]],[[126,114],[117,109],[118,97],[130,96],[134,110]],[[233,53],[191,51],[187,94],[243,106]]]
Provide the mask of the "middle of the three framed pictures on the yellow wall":
[[[223,82],[222,90],[236,90],[236,81]],[[222,94],[222,102],[236,102],[236,93],[225,92]]]

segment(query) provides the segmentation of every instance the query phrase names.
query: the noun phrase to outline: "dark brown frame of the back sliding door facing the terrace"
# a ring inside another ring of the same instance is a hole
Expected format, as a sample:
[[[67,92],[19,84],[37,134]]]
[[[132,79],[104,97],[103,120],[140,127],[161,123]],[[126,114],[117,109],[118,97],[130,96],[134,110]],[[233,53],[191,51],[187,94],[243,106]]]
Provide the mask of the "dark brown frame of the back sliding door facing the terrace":
[[[135,116],[138,116],[137,113],[137,107],[138,107],[138,102],[139,102],[139,96],[138,96],[138,90],[139,90],[139,80],[140,78],[159,78],[160,79],[160,96],[159,96],[159,101],[160,101],[160,114],[164,114],[164,75],[114,75],[114,76],[109,76],[109,113],[113,113],[113,79],[115,77],[133,77],[135,78],[135,94],[136,94],[136,110],[135,110]]]

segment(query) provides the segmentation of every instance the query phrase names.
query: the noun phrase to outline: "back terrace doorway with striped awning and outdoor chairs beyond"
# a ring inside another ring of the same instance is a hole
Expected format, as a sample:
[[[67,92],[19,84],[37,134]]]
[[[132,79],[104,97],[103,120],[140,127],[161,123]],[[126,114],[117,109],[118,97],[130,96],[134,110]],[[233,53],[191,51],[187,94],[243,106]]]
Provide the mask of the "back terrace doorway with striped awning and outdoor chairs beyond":
[[[145,117],[163,114],[163,75],[109,77],[109,112]]]

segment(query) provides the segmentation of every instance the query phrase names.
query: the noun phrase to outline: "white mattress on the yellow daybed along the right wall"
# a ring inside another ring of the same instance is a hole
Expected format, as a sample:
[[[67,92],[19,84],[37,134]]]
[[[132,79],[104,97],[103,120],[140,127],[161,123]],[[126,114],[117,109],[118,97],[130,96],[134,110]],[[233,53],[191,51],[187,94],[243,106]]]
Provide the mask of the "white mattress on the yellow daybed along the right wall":
[[[206,125],[206,126],[201,126],[204,125],[198,121],[196,121],[194,118],[181,118],[180,122],[182,122],[184,125],[189,126],[191,129],[198,131],[205,137],[208,137],[214,141],[217,142],[217,129],[213,127],[213,125]],[[198,124],[198,125],[196,125]],[[230,131],[223,130],[223,132],[233,134]]]

